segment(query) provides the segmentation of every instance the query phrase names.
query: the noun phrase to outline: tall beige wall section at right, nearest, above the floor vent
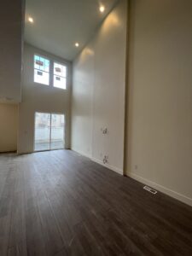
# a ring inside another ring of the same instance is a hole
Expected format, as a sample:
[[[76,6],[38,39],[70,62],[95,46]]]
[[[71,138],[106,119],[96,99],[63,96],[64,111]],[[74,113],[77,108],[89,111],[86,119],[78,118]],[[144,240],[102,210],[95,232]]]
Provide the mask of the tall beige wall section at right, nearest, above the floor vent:
[[[192,205],[191,27],[190,0],[131,1],[126,173]]]

